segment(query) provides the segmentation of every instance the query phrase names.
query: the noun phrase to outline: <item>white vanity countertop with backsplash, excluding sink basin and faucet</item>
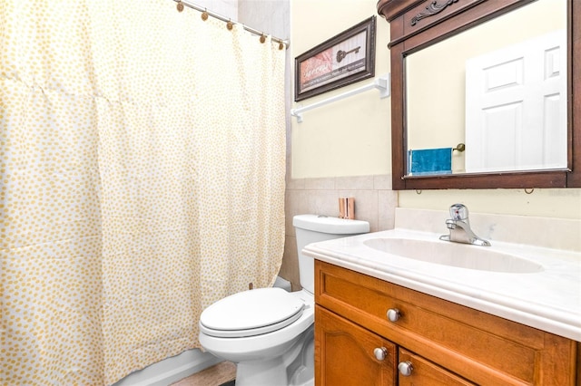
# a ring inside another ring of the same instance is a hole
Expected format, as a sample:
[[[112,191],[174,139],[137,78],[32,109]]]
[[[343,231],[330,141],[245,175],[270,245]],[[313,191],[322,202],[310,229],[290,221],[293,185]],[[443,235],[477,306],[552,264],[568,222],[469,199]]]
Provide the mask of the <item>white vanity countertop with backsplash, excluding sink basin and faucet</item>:
[[[470,212],[474,232],[492,246],[469,246],[524,257],[535,273],[498,273],[426,263],[364,244],[373,237],[438,241],[448,211],[396,209],[396,228],[314,243],[303,252],[330,264],[495,314],[581,342],[581,221]],[[462,245],[466,246],[466,245]]]

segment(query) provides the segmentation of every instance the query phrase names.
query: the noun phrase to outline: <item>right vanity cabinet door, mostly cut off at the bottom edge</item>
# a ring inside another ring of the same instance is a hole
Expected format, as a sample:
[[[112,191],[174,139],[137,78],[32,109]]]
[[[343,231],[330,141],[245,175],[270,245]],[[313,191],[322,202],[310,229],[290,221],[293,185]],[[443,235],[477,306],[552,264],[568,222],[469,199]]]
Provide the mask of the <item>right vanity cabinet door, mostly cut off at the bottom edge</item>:
[[[399,386],[467,386],[475,384],[444,370],[413,352],[399,348],[398,368],[402,364],[405,367],[399,370]]]

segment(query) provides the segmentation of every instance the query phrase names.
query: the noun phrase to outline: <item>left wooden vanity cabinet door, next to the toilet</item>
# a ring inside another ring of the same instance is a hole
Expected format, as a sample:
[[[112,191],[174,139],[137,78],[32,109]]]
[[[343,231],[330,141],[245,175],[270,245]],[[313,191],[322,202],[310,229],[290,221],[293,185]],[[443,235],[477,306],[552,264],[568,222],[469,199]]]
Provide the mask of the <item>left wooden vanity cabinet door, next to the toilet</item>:
[[[395,385],[396,350],[379,335],[316,306],[316,386]]]

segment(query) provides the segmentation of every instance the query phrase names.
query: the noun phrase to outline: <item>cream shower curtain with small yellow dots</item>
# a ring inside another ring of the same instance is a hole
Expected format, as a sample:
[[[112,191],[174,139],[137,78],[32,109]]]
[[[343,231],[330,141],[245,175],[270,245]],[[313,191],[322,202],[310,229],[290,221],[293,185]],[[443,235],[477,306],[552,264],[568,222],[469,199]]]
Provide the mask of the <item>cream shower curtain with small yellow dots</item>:
[[[170,0],[0,6],[0,384],[200,347],[284,244],[284,50]]]

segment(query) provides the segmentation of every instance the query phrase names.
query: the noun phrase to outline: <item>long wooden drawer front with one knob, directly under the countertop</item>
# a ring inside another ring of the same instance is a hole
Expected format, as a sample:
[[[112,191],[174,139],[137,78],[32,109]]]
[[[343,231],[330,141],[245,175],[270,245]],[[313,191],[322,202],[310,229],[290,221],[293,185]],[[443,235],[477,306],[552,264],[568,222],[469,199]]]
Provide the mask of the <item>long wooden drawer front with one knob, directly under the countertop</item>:
[[[315,275],[317,304],[470,381],[575,384],[571,340],[318,260]]]

